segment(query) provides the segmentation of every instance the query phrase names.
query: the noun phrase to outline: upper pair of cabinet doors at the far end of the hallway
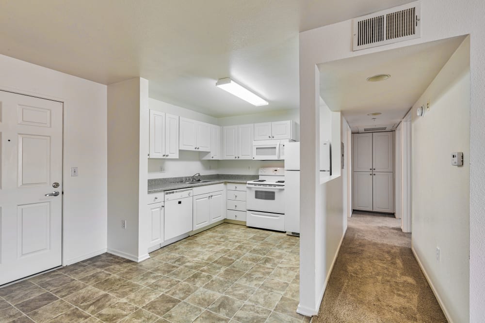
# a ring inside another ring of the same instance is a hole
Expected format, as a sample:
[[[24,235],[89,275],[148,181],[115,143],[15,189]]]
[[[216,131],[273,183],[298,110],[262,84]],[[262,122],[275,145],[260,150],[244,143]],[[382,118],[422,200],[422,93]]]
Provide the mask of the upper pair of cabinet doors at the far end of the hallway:
[[[394,135],[392,132],[354,134],[354,171],[392,172]]]

